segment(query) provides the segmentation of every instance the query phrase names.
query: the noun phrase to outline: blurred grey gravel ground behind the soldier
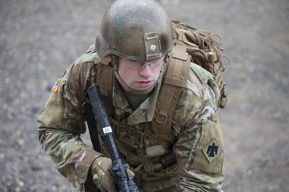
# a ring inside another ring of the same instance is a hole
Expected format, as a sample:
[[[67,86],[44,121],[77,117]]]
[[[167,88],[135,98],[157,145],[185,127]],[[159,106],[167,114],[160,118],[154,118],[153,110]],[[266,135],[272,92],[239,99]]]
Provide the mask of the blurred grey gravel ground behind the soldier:
[[[112,2],[0,0],[0,191],[69,191],[40,148],[36,118]],[[172,19],[221,35],[231,59],[219,111],[223,190],[289,191],[288,1],[159,2]]]

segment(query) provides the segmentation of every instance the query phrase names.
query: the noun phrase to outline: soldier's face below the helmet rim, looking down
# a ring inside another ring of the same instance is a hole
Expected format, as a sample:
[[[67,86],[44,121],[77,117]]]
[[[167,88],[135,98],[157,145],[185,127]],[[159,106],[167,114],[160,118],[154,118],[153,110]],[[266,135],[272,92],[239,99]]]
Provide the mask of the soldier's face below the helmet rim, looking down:
[[[161,58],[162,61],[164,57]],[[125,63],[131,62],[129,59],[125,59],[122,57],[118,57],[118,74],[116,73],[116,78],[118,82],[123,86],[124,89],[127,89],[125,84],[127,84],[131,89],[136,90],[145,90],[151,87],[158,80],[160,69],[162,68],[162,62],[151,68],[151,65],[146,64],[143,68],[140,69],[132,69],[125,65]],[[139,61],[139,65],[143,63],[143,61]],[[136,63],[138,65],[138,63]],[[123,81],[125,84],[123,83]]]

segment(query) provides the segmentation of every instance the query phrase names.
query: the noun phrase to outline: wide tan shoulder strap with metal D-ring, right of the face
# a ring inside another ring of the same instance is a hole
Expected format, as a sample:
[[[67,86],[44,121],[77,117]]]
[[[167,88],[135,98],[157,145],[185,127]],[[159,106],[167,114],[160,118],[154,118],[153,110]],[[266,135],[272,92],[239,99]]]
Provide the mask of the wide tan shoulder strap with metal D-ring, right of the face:
[[[171,138],[174,109],[180,96],[183,95],[189,72],[190,57],[186,54],[186,46],[177,43],[170,54],[166,74],[156,101],[152,120],[154,134]]]

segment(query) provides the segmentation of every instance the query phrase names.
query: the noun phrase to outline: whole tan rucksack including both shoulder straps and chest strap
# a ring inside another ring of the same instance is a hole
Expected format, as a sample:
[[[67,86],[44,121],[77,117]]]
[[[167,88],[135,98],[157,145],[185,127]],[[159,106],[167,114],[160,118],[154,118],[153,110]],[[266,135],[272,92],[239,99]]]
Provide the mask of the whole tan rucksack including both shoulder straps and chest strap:
[[[203,67],[214,76],[221,93],[217,102],[218,108],[225,108],[227,104],[226,83],[223,81],[221,72],[230,65],[229,58],[220,54],[220,50],[224,50],[220,47],[222,42],[217,42],[214,38],[216,35],[221,39],[219,35],[213,34],[210,31],[194,29],[181,23],[179,20],[171,20],[171,22],[176,35],[176,46],[171,51],[169,58],[169,63],[173,64],[170,64],[165,71],[151,122],[152,133],[140,132],[139,130],[135,130],[134,127],[110,118],[112,124],[147,137],[166,141],[173,139],[171,131],[176,135],[180,129],[180,125],[172,125],[172,116],[178,99],[184,94],[183,89],[190,71],[190,62],[188,61]],[[222,63],[222,56],[229,60],[227,67]],[[220,64],[219,67],[217,63]],[[109,67],[107,64],[108,61],[105,58],[97,57],[95,59],[91,85],[99,85],[105,108],[108,115],[110,115],[113,108],[112,89],[114,71],[113,67]]]

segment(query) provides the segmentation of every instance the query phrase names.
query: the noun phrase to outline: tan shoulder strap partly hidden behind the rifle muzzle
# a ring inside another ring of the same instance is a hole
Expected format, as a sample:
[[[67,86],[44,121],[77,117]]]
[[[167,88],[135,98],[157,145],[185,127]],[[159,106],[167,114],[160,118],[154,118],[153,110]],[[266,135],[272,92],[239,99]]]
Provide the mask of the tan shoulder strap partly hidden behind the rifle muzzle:
[[[103,103],[108,114],[112,112],[113,68],[107,65],[105,58],[98,59],[96,84],[99,85]]]

